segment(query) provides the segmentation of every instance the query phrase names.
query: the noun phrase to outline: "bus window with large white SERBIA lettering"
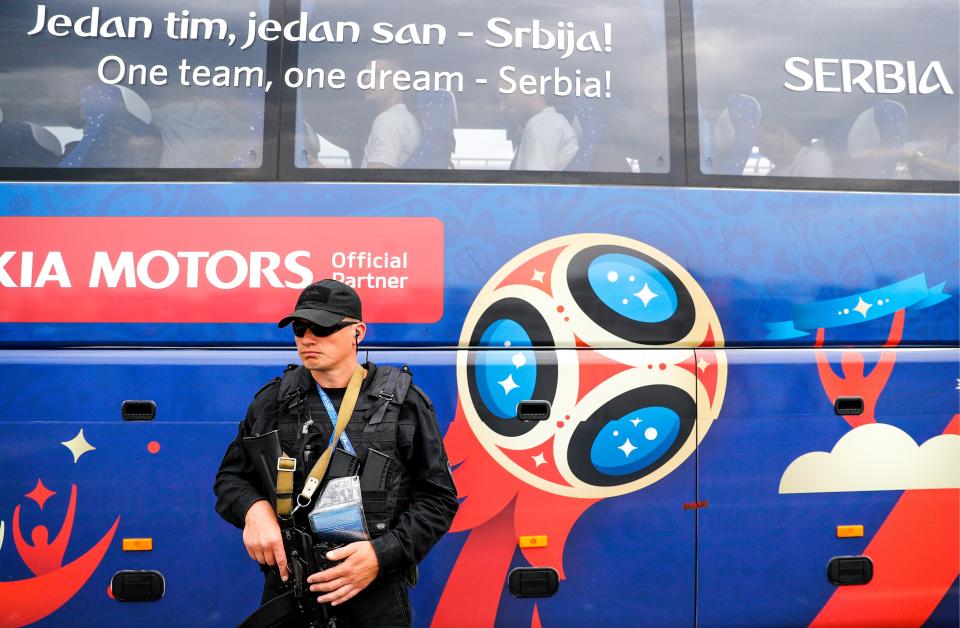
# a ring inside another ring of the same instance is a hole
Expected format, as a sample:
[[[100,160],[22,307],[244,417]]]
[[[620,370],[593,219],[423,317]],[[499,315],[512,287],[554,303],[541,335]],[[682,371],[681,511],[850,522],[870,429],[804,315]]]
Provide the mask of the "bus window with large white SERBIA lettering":
[[[958,178],[958,4],[694,1],[700,169]]]

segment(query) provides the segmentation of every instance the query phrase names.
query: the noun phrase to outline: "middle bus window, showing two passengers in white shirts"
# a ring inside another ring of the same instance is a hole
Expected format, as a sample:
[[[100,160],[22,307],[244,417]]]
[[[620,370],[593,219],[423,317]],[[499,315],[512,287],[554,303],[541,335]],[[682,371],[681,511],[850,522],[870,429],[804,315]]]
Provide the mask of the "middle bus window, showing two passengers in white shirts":
[[[670,171],[662,3],[301,10],[299,168]]]

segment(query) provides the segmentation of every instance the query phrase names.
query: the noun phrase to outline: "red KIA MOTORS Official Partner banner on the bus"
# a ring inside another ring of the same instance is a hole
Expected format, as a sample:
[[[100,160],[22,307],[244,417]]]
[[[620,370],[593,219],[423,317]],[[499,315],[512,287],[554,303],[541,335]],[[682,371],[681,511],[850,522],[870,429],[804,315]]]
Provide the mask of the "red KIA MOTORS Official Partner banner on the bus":
[[[325,277],[356,288],[367,321],[437,321],[443,223],[0,217],[0,322],[274,322]]]

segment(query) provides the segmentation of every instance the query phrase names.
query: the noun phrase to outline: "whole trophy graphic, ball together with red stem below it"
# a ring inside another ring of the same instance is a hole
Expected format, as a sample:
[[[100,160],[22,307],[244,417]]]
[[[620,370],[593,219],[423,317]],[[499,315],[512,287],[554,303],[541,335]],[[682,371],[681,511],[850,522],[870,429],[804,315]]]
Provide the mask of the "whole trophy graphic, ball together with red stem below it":
[[[579,517],[666,477],[707,434],[726,387],[722,346],[697,282],[642,242],[564,236],[497,271],[457,351],[444,444],[464,499],[450,531],[470,534],[433,625],[461,625],[464,608],[472,625],[496,624],[517,538],[531,530],[550,541],[521,547],[524,558],[564,579]],[[549,418],[517,418],[530,400],[550,402]],[[529,625],[540,625],[536,605]]]

